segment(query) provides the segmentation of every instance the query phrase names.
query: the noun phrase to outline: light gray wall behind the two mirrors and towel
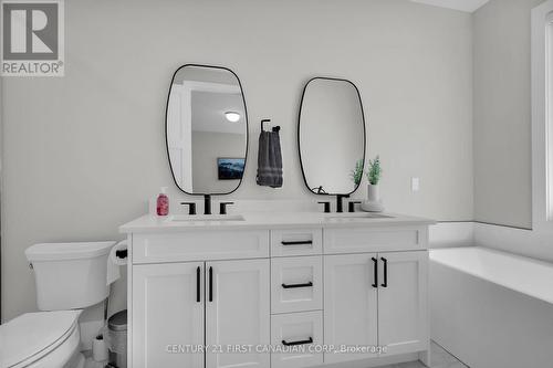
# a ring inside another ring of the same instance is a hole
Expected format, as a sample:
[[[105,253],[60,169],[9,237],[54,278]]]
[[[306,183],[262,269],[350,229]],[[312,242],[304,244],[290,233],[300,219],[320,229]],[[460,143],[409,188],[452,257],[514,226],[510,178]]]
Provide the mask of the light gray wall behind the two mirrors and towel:
[[[25,248],[118,239],[159,187],[184,198],[164,140],[170,77],[184,63],[230,67],[243,84],[251,146],[233,199],[315,200],[300,172],[296,115],[304,83],[326,75],[362,93],[388,210],[472,219],[470,14],[407,0],[71,0],[65,20],[65,77],[4,81],[4,320],[35,308]],[[282,126],[280,190],[254,181],[263,117]]]

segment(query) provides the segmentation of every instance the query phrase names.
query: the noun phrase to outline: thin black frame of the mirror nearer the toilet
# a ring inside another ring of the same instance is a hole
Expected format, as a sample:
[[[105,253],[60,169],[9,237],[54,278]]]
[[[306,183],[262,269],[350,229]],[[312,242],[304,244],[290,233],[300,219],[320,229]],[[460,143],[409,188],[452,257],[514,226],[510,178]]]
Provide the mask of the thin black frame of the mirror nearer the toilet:
[[[169,111],[169,96],[171,94],[173,82],[175,82],[175,77],[177,76],[177,73],[181,69],[187,67],[187,66],[219,69],[219,70],[223,70],[223,71],[227,71],[227,72],[230,72],[237,78],[238,86],[240,87],[240,91],[242,93],[242,103],[243,103],[243,109],[244,109],[244,115],[246,115],[244,116],[246,117],[246,155],[244,155],[244,161],[243,161],[243,168],[244,168],[244,170],[242,172],[242,177],[240,178],[240,182],[238,183],[238,186],[232,191],[229,191],[227,193],[189,193],[186,190],[184,190],[182,188],[180,188],[180,186],[177,182],[177,179],[175,178],[175,171],[173,170],[173,164],[171,164],[171,159],[170,159],[170,155],[169,155],[169,139],[168,139],[169,137],[168,137],[168,133],[167,133],[167,113]],[[242,88],[242,83],[240,82],[240,78],[238,77],[238,75],[234,72],[232,72],[230,69],[225,67],[225,66],[204,65],[204,64],[184,64],[184,65],[179,66],[175,71],[175,73],[173,73],[171,82],[169,84],[169,92],[167,93],[167,104],[165,106],[165,148],[166,148],[166,151],[167,151],[167,160],[169,161],[169,169],[171,171],[173,181],[175,182],[175,186],[177,186],[177,188],[181,192],[184,192],[186,194],[189,194],[189,196],[204,196],[204,197],[206,197],[206,196],[228,196],[228,194],[232,194],[234,191],[237,191],[238,188],[240,188],[240,186],[242,185],[243,176],[246,174],[246,167],[248,165],[248,150],[249,150],[249,147],[250,147],[249,130],[250,130],[250,127],[249,127],[249,123],[248,123],[248,107],[246,106],[246,95],[244,95],[244,92],[243,92],[243,88]]]

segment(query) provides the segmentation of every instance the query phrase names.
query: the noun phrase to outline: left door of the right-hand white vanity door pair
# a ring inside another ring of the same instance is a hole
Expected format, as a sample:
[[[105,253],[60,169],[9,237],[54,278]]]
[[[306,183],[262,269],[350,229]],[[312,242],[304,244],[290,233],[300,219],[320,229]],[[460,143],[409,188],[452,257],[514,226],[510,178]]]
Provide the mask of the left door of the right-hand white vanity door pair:
[[[376,346],[376,253],[324,257],[324,344]],[[367,353],[326,353],[324,362],[374,357]]]

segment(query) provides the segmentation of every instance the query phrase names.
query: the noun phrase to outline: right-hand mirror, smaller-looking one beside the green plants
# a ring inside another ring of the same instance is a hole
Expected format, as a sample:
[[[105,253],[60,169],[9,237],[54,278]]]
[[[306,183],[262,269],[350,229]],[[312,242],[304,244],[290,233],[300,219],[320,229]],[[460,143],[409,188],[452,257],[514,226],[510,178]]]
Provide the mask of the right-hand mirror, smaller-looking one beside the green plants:
[[[303,91],[299,146],[303,177],[316,194],[351,194],[353,176],[365,162],[365,120],[357,87],[345,80],[317,77]]]

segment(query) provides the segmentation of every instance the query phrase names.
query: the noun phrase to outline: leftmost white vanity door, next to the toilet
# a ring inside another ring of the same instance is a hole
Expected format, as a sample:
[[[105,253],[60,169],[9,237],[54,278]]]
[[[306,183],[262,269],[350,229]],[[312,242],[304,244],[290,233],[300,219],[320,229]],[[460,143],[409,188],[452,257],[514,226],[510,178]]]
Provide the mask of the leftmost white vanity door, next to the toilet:
[[[199,262],[133,266],[134,368],[204,367],[202,278]]]

